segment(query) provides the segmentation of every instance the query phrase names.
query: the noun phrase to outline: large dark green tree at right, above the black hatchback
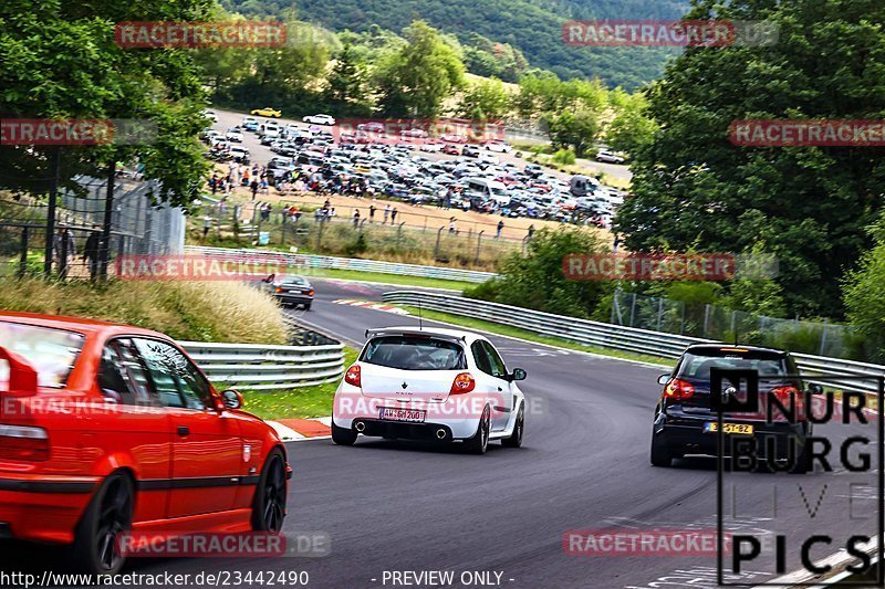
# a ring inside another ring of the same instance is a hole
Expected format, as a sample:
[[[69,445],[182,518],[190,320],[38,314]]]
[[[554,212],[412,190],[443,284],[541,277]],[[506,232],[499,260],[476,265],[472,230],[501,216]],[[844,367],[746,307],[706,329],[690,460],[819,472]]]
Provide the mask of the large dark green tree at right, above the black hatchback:
[[[878,119],[885,113],[885,4],[878,0],[704,2],[689,18],[768,20],[773,46],[690,49],[648,92],[662,128],[634,155],[616,218],[633,251],[740,252],[780,261],[790,314],[842,314],[840,277],[870,244],[885,150],[737,147],[736,119]]]

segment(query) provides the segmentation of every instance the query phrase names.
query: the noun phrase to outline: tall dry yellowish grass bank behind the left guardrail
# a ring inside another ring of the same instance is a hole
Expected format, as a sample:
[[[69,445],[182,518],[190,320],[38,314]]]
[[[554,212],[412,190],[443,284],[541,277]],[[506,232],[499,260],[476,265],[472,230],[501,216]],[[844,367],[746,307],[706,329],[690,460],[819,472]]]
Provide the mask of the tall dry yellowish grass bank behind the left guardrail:
[[[277,303],[237,282],[0,278],[0,308],[124,323],[180,340],[288,343]]]

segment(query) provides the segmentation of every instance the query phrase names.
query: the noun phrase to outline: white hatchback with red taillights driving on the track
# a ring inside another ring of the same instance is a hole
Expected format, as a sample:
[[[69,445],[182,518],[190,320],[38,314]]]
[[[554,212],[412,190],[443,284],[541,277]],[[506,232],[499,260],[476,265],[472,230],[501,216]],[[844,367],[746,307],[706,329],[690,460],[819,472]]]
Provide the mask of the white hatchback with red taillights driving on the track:
[[[509,371],[485,337],[470,332],[384,327],[347,368],[335,392],[332,441],[358,434],[457,442],[471,453],[489,440],[522,445],[525,371]]]

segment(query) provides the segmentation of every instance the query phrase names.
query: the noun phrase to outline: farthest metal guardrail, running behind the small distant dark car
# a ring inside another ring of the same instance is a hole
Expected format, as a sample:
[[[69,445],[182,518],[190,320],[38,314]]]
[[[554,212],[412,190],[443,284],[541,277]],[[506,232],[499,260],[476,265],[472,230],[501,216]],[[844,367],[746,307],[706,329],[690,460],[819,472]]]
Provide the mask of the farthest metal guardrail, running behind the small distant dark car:
[[[358,272],[377,272],[381,274],[398,274],[400,276],[420,276],[425,278],[439,278],[459,282],[486,282],[496,276],[492,272],[479,272],[475,270],[458,270],[440,266],[421,266],[417,264],[400,264],[397,262],[379,262],[377,260],[358,260],[355,257],[336,257],[332,255],[296,254],[288,252],[274,252],[272,250],[253,249],[232,249],[232,248],[206,248],[199,245],[187,245],[186,254],[202,254],[207,256],[223,256],[227,260],[251,256],[274,256],[282,257],[288,265],[294,269],[323,269],[323,270],[355,270]]]

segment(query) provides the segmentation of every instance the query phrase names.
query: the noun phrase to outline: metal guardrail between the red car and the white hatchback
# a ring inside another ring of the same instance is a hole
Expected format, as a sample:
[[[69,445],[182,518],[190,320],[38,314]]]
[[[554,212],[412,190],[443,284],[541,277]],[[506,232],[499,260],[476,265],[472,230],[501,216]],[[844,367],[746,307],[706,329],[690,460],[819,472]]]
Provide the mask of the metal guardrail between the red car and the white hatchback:
[[[180,344],[209,380],[248,390],[291,389],[334,382],[344,372],[343,344]]]

